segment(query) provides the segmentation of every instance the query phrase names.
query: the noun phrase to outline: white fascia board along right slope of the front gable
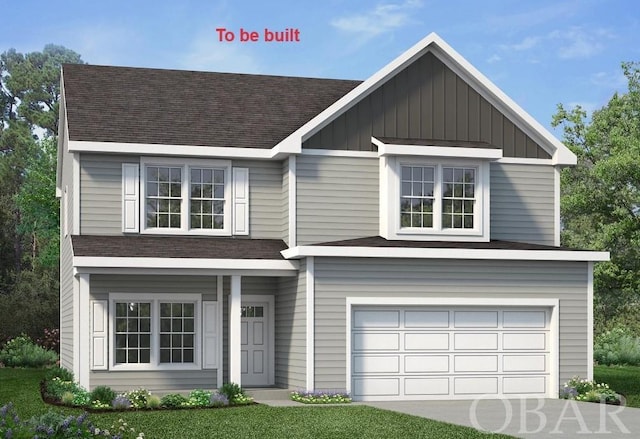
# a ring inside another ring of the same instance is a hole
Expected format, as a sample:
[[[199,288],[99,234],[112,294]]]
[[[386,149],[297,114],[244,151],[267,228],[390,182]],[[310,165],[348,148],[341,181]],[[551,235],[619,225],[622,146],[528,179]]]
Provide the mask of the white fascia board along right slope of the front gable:
[[[462,55],[456,52],[451,46],[449,46],[438,35],[434,35],[433,44],[439,49],[434,50],[433,53],[445,62],[448,67],[462,76],[471,84],[480,87],[478,91],[484,91],[483,95],[488,95],[487,99],[491,104],[502,112],[513,116],[516,120],[523,123],[525,133],[529,135],[533,140],[538,142],[540,146],[545,149],[551,156],[554,165],[575,165],[577,163],[577,157],[569,150],[562,142],[560,142],[553,134],[551,134],[545,127],[543,127],[537,120],[535,120],[529,113],[527,113],[522,107],[516,104],[509,96],[500,90],[493,82],[491,82],[486,76],[484,76],[478,69],[476,69],[469,61],[464,59]],[[444,58],[443,59],[443,56]],[[455,66],[451,65],[451,62]],[[462,73],[462,74],[461,74]],[[476,87],[474,87],[476,88]]]

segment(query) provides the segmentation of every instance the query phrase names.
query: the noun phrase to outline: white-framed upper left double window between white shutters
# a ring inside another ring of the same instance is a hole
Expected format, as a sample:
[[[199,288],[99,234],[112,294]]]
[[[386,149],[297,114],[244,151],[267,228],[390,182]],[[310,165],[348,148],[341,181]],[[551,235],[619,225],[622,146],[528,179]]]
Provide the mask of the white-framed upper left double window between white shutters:
[[[231,234],[231,162],[142,160],[144,233]]]

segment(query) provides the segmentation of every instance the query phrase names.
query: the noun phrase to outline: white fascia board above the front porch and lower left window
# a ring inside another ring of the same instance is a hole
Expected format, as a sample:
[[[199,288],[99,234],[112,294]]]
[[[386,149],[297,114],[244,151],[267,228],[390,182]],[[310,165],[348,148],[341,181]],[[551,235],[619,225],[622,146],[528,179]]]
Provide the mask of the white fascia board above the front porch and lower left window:
[[[80,268],[197,269],[197,270],[297,270],[296,261],[275,259],[120,258],[74,256]]]

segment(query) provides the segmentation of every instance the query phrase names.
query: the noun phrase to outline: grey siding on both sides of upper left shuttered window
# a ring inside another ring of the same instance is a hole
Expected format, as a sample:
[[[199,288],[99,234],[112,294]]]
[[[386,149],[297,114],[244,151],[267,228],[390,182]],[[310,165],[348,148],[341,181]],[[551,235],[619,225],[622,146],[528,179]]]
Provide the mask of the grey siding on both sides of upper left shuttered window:
[[[122,235],[122,164],[140,157],[82,154],[80,160],[80,232]],[[176,159],[180,163],[180,159]],[[251,238],[282,238],[281,162],[233,160],[249,168],[249,233]],[[144,215],[141,215],[144,218]]]

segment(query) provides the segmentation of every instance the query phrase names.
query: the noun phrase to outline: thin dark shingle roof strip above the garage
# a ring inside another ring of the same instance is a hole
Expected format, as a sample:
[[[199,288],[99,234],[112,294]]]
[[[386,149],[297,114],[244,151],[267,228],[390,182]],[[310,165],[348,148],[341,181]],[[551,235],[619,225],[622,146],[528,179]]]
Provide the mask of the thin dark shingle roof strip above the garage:
[[[343,241],[322,242],[313,244],[317,246],[335,247],[401,247],[401,248],[464,248],[481,250],[572,250],[565,247],[551,245],[528,244],[523,242],[491,240],[489,242],[468,241],[396,241],[388,240],[381,236],[368,238],[347,239]],[[582,251],[582,250],[574,250]],[[584,250],[589,251],[589,250]]]

